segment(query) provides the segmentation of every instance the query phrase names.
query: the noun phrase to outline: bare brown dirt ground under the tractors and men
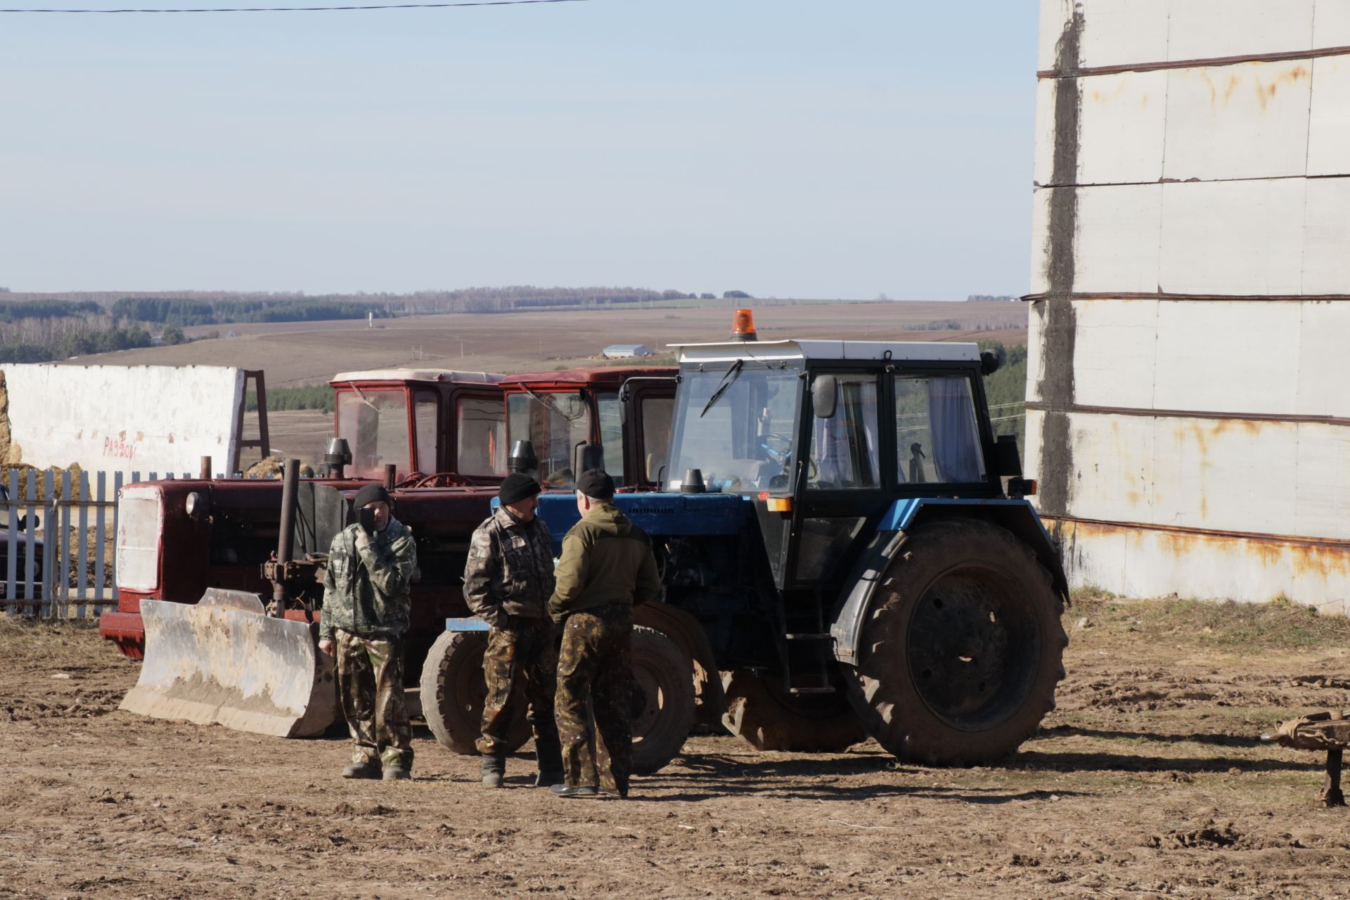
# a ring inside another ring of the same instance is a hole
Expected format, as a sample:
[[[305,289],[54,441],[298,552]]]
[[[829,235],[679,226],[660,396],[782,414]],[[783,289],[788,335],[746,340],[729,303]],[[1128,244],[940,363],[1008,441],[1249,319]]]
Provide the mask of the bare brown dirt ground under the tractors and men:
[[[1350,702],[1350,622],[1083,596],[1065,625],[1058,710],[1000,765],[702,737],[620,801],[525,756],[487,793],[425,729],[416,780],[344,783],[344,739],[120,712],[136,663],[0,621],[0,897],[1346,895],[1350,812],[1258,735]]]

